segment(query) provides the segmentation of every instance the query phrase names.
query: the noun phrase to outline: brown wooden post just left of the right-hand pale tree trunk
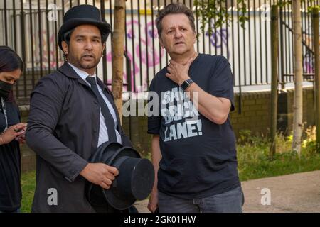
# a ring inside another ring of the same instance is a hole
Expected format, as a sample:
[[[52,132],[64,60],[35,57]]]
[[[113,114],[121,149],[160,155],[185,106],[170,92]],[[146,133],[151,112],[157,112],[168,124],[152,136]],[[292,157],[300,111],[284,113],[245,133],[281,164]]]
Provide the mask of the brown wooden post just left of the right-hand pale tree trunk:
[[[271,6],[271,121],[270,158],[276,153],[277,102],[278,102],[278,7]]]

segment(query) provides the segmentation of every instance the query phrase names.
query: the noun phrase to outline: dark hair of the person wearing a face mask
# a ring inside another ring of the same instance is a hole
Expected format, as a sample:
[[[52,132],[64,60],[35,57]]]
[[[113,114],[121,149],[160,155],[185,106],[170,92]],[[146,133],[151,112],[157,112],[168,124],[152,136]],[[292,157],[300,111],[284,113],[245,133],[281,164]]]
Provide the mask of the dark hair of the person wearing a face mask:
[[[0,72],[12,72],[14,70],[23,71],[23,61],[21,57],[11,48],[0,46]],[[11,90],[7,101],[14,102],[14,92]]]

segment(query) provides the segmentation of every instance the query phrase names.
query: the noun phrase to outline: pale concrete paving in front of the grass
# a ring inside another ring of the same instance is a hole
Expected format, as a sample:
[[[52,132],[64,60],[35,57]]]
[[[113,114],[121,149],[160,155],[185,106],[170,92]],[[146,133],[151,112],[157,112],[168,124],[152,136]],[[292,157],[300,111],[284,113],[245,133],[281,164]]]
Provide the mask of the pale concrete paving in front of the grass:
[[[242,182],[246,213],[320,212],[320,171]],[[137,201],[140,213],[149,212],[147,200]]]

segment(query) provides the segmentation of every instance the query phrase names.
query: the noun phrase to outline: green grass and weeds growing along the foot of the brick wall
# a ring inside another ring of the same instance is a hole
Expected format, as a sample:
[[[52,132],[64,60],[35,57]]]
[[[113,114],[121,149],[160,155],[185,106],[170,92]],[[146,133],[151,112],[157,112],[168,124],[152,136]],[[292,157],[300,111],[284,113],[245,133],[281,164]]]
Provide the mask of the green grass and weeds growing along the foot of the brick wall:
[[[300,157],[292,152],[291,144],[292,136],[277,135],[277,153],[271,160],[270,143],[267,138],[252,135],[250,131],[242,131],[237,146],[240,180],[320,170],[320,153],[316,153],[314,128],[309,128],[304,133]],[[23,191],[21,212],[31,211],[35,181],[34,171],[25,172],[21,176]]]

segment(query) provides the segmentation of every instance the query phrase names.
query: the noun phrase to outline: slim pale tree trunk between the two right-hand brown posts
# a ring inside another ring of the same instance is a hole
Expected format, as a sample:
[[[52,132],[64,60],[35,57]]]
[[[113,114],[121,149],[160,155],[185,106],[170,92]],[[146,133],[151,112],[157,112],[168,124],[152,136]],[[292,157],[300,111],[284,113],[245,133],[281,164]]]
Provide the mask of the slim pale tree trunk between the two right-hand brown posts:
[[[294,21],[294,125],[292,149],[301,153],[302,123],[302,22],[301,1],[292,1]]]

